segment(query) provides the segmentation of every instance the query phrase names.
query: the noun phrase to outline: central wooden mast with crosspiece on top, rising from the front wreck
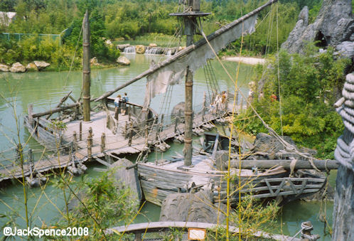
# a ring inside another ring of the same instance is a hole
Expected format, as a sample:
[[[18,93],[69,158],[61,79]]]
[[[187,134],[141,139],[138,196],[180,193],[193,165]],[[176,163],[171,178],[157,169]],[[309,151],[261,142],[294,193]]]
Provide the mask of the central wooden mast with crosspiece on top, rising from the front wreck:
[[[200,12],[200,0],[187,0],[188,11],[183,13],[171,14],[173,16],[181,16],[184,21],[184,34],[186,35],[187,47],[193,45],[193,35],[197,18],[207,16],[208,13]],[[186,74],[186,103],[185,103],[185,129],[184,129],[184,165],[191,166],[192,164],[192,129],[193,129],[193,73],[189,66]]]

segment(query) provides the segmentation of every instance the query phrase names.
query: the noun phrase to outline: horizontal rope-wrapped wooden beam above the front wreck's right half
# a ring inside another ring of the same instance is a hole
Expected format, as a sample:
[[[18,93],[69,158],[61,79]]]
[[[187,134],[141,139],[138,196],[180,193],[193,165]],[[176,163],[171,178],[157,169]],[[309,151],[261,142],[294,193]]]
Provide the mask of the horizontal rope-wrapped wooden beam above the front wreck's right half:
[[[240,165],[241,164],[241,165]],[[232,168],[245,168],[251,169],[257,167],[260,169],[269,169],[274,166],[282,166],[286,170],[290,170],[291,160],[243,160],[243,161],[231,161],[230,167]],[[313,164],[321,171],[338,169],[338,161],[336,160],[313,160]],[[225,164],[226,168],[227,165]],[[294,166],[294,169],[313,169],[310,161],[298,160]]]

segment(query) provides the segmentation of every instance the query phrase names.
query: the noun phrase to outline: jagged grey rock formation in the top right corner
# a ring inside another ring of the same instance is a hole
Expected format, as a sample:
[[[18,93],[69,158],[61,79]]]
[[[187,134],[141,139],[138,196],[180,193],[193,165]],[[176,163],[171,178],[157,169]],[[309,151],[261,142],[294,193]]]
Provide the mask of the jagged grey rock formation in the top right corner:
[[[354,19],[351,0],[324,0],[316,21],[309,24],[309,9],[301,10],[299,20],[281,45],[289,53],[304,53],[306,42],[319,41],[318,47],[333,46],[348,58],[354,56]]]

